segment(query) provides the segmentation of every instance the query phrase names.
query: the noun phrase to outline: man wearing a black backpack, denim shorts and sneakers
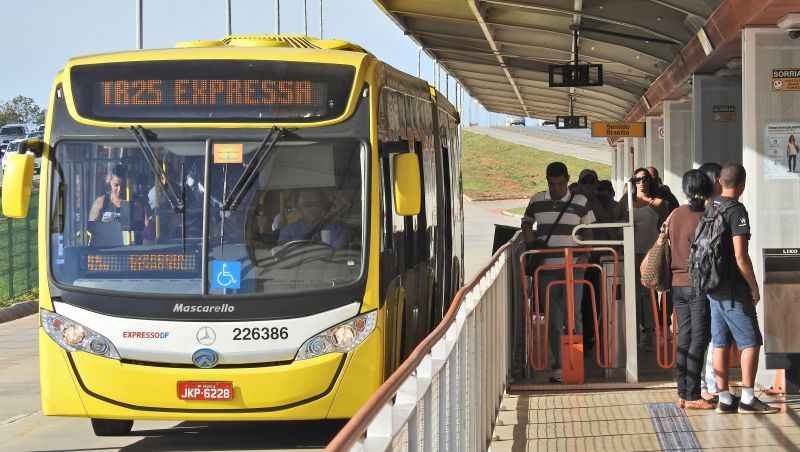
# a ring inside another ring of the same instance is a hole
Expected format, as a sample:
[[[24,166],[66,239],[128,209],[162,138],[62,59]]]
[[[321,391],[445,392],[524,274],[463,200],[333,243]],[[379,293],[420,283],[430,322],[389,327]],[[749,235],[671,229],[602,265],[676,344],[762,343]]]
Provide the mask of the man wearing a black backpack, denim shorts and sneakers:
[[[719,390],[717,413],[767,414],[778,409],[754,394],[758,354],[763,344],[756,317],[758,282],[748,254],[750,219],[739,202],[746,172],[742,165],[726,164],[720,173],[722,194],[713,199],[697,226],[689,255],[693,286],[708,294],[714,373]],[[730,340],[741,350],[741,400],[728,389]]]

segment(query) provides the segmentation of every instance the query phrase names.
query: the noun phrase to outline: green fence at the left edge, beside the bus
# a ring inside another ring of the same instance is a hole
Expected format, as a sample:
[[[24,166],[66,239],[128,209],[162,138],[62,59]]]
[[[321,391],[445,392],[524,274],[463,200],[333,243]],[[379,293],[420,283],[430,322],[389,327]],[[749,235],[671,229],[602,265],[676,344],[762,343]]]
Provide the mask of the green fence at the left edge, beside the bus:
[[[0,215],[0,300],[20,297],[39,285],[38,207],[39,190],[34,186],[26,218]]]

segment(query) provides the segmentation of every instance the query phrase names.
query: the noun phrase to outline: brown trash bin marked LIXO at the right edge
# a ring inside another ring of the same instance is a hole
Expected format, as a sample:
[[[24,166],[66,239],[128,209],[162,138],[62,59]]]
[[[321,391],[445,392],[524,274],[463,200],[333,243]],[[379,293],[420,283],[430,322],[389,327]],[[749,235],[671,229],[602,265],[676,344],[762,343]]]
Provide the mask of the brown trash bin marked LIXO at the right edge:
[[[786,393],[800,393],[800,249],[764,249],[764,352],[786,369]]]

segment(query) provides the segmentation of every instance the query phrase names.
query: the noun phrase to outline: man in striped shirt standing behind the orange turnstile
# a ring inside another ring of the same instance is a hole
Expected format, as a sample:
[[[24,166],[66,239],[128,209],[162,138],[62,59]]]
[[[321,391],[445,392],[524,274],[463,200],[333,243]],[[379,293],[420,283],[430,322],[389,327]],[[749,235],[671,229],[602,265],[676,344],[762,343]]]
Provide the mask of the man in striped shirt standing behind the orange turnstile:
[[[576,247],[578,244],[572,238],[572,230],[579,224],[594,223],[594,212],[588,206],[589,200],[585,195],[570,193],[569,173],[566,165],[561,162],[553,162],[547,165],[546,174],[548,190],[533,195],[528,203],[528,208],[525,209],[525,217],[522,219],[522,229],[526,241],[528,241],[529,247]],[[591,239],[590,234],[590,230],[584,230],[581,238]],[[538,241],[538,245],[534,245],[534,241]],[[564,263],[564,258],[550,257],[545,259],[545,263]],[[547,285],[551,281],[565,279],[565,274],[563,270],[547,270],[540,272],[539,275],[539,309],[543,314]],[[575,269],[574,278],[576,280],[584,279],[584,270]],[[582,334],[583,331],[582,298],[583,287],[575,284],[574,334]],[[547,325],[552,367],[550,381],[553,383],[561,382],[561,335],[566,333],[566,314],[566,287],[563,285],[553,286],[550,292],[550,324]]]

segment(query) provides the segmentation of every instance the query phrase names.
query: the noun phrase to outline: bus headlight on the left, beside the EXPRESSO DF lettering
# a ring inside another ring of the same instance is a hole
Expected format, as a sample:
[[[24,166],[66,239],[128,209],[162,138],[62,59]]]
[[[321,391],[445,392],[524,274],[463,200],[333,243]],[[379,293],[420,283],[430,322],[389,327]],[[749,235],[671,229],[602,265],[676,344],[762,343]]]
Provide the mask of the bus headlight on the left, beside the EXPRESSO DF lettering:
[[[114,344],[100,333],[70,320],[63,315],[42,309],[42,328],[56,341],[56,344],[69,352],[87,352],[111,359],[119,359]]]

